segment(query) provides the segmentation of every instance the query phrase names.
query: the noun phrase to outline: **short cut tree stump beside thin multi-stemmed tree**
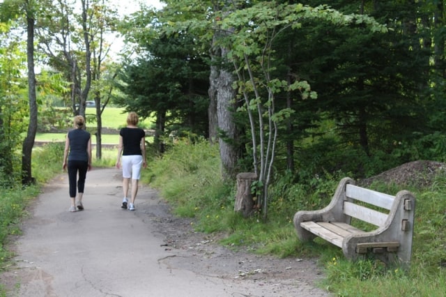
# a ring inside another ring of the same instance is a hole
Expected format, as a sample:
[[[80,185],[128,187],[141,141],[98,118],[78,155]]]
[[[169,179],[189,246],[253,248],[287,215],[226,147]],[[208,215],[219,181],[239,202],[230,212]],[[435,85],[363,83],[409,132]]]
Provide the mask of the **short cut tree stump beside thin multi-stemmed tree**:
[[[241,212],[245,218],[254,213],[254,199],[251,194],[251,185],[256,180],[257,176],[252,172],[237,174],[237,195],[234,211]]]

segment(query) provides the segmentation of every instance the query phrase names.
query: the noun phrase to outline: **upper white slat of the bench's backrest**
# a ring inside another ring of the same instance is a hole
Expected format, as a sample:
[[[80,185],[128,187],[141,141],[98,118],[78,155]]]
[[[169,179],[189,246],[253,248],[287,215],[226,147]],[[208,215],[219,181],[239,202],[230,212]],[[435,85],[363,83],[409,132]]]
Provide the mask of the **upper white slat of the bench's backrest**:
[[[357,185],[346,185],[346,197],[366,202],[375,206],[385,208],[390,211],[395,197],[374,190],[360,188]]]

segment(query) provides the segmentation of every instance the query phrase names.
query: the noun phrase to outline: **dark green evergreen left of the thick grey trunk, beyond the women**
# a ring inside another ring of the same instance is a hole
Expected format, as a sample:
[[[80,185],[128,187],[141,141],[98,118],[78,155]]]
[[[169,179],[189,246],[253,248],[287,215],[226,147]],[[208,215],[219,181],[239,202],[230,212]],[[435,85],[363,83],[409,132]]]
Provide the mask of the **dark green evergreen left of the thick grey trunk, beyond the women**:
[[[155,144],[164,151],[160,138],[208,135],[208,77],[206,56],[198,52],[194,36],[160,36],[141,45],[146,55],[121,73],[121,91],[115,100],[143,118],[155,114]]]

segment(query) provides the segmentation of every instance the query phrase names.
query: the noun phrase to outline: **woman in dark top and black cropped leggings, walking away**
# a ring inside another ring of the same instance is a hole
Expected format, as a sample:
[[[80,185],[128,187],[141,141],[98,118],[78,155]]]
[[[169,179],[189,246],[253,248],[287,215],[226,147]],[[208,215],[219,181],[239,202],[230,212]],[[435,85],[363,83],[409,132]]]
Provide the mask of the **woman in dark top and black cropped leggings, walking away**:
[[[82,196],[84,195],[87,170],[91,169],[91,136],[84,130],[83,116],[75,116],[75,129],[68,132],[63,152],[63,170],[68,167],[68,181],[70,183],[71,206],[69,211],[76,211],[76,178],[77,180],[77,209],[84,210]],[[68,153],[69,152],[69,153]],[[68,162],[67,162],[68,158]]]

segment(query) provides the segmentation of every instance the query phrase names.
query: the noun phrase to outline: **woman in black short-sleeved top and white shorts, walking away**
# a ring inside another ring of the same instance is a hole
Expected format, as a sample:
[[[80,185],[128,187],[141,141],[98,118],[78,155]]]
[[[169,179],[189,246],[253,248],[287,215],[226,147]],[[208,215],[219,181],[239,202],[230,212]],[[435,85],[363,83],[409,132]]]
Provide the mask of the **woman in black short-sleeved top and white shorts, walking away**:
[[[116,167],[123,169],[123,204],[121,208],[134,211],[134,199],[138,193],[138,181],[141,178],[141,167],[146,168],[146,132],[138,128],[138,115],[130,112],[127,116],[127,127],[119,131],[118,160]],[[128,189],[132,178],[132,192],[128,204]]]

